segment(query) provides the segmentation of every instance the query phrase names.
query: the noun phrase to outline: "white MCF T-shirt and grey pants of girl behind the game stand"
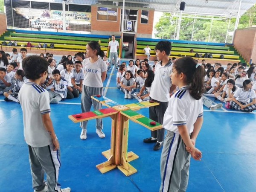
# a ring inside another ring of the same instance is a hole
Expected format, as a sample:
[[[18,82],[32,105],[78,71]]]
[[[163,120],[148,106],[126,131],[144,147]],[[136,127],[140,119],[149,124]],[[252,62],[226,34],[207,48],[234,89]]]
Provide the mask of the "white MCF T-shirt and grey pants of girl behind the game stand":
[[[81,95],[81,111],[90,111],[93,105],[94,110],[102,108],[102,104],[91,99],[93,95],[103,95],[103,83],[102,83],[102,72],[107,71],[107,66],[102,59],[98,59],[96,62],[91,63],[90,58],[86,58],[83,61],[84,68],[84,82]],[[80,124],[82,129],[87,129],[88,121],[83,121]],[[96,128],[101,130],[103,128],[102,119],[96,119]]]

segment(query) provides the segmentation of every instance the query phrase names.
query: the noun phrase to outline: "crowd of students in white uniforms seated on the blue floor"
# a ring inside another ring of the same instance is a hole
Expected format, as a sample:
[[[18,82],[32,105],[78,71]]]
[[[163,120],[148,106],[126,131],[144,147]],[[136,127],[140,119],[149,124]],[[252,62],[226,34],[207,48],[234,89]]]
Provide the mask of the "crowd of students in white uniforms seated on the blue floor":
[[[6,101],[19,102],[18,91],[26,81],[22,70],[22,60],[26,54],[26,48],[21,48],[20,53],[14,48],[10,55],[0,51],[0,94],[6,96]],[[52,54],[41,53],[40,56],[46,58],[49,63],[48,77],[41,86],[49,91],[50,103],[79,97],[84,79],[83,61],[87,58],[86,53],[78,52],[73,58],[71,55],[63,55],[58,65]],[[107,56],[102,59],[109,68]],[[176,58],[173,57],[172,62],[175,60]],[[152,66],[145,58],[143,61],[130,60],[128,64],[124,61],[119,65],[116,86],[125,93],[125,99],[135,98],[139,102],[149,100],[157,62],[154,60]],[[233,65],[229,63],[224,68],[220,63],[215,63],[214,66],[210,63],[206,64],[203,59],[201,66],[206,71],[204,78],[206,92],[203,96],[205,106],[211,110],[222,107],[222,104],[212,105],[211,100],[207,98],[214,97],[225,103],[226,108],[248,112],[256,109],[255,64],[250,64],[247,68],[246,63],[239,62]]]

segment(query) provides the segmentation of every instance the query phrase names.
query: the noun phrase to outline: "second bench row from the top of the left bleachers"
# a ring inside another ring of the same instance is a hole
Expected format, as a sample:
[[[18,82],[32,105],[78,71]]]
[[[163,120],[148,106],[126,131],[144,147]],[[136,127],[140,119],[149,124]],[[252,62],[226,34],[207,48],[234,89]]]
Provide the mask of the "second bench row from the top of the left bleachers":
[[[87,41],[65,41],[65,40],[57,40],[57,39],[41,39],[41,38],[17,38],[17,37],[4,37],[6,40],[11,41],[27,41],[27,42],[44,42],[49,44],[75,44],[75,45],[87,45]],[[81,39],[80,39],[81,40]],[[100,43],[101,46],[108,46],[108,43]]]

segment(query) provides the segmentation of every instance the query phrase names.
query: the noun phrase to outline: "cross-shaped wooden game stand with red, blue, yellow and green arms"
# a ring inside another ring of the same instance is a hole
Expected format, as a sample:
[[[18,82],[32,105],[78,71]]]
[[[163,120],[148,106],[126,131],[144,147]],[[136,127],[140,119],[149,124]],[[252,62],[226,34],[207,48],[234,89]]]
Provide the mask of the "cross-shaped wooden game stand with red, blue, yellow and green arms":
[[[91,98],[109,108],[78,113],[70,115],[69,118],[76,123],[89,119],[111,117],[111,148],[102,152],[108,160],[96,165],[97,169],[99,169],[101,173],[105,173],[117,167],[126,176],[136,173],[137,170],[128,163],[139,158],[134,152],[127,152],[129,119],[143,125],[151,131],[162,128],[162,125],[158,122],[155,122],[155,125],[151,125],[151,119],[136,112],[136,110],[141,108],[159,105],[159,103],[146,101],[119,105],[105,96],[91,96]]]

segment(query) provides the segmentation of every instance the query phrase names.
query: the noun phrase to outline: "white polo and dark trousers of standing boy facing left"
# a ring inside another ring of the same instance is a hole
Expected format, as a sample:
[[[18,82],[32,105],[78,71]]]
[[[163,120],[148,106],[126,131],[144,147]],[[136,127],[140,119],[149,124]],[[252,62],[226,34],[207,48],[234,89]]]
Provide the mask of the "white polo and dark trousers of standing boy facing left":
[[[158,102],[159,105],[149,107],[149,118],[160,124],[163,124],[163,116],[170,99],[172,65],[171,59],[164,66],[162,66],[162,61],[158,62],[155,67],[154,81],[151,84],[150,100]],[[157,141],[161,142],[163,141],[164,131],[163,128],[151,131],[151,137],[157,138]]]

